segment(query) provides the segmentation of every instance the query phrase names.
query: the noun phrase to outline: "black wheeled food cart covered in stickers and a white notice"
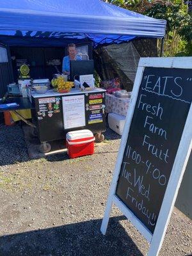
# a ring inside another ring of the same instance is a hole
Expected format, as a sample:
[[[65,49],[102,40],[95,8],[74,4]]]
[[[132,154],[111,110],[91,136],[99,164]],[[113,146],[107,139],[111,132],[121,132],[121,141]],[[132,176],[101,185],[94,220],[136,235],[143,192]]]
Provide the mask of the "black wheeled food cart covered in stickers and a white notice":
[[[106,90],[94,88],[68,93],[49,90],[44,94],[31,93],[33,123],[44,151],[51,147],[47,141],[65,139],[68,131],[89,129],[99,141],[106,131]]]

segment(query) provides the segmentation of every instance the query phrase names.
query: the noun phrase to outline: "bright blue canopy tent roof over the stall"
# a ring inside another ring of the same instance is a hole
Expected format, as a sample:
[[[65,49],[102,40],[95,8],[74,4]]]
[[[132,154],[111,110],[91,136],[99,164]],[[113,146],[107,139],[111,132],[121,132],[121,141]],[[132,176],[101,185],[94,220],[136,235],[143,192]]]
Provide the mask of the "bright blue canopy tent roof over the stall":
[[[163,38],[165,29],[165,20],[100,0],[0,0],[0,42],[7,45],[61,46],[90,40],[97,46],[136,37]]]

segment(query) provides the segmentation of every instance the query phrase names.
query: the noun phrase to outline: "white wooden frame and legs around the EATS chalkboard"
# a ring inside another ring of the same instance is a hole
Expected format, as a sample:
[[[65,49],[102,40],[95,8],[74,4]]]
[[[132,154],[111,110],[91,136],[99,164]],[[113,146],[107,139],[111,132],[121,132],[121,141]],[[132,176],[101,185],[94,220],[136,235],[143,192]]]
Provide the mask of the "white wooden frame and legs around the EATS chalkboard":
[[[188,163],[189,154],[192,148],[192,104],[189,108],[186,124],[184,126],[177,154],[175,156],[172,172],[170,175],[170,179],[168,181],[168,185],[164,194],[163,203],[161,205],[161,210],[159,212],[159,216],[157,219],[156,228],[154,230],[154,234],[152,234],[147,229],[147,227],[145,227],[145,225],[143,225],[143,223],[133,214],[133,212],[127,208],[127,206],[122,202],[122,200],[120,200],[120,198],[118,198],[118,196],[115,195],[118,176],[120,174],[120,168],[124,157],[124,151],[129,136],[129,129],[132,122],[132,116],[134,114],[136,100],[138,98],[138,92],[140,90],[141,80],[143,78],[143,72],[145,70],[145,67],[189,69],[192,68],[192,57],[140,59],[131,96],[131,105],[125,120],[124,132],[122,135],[122,140],[118,151],[118,157],[116,160],[115,170],[113,173],[113,180],[111,183],[111,187],[109,189],[108,202],[106,204],[106,210],[104,212],[104,218],[102,220],[100,231],[102,232],[102,234],[106,234],[111,208],[112,205],[115,204],[116,207],[118,207],[118,209],[120,209],[120,211],[127,217],[127,219],[131,221],[132,225],[134,225],[134,227],[136,227],[138,231],[150,243],[148,256],[157,256],[163,243],[166,228],[168,227],[170,216],[173,211],[173,206],[177,198],[177,193],[179,191],[180,183],[182,181],[182,177],[184,175],[186,164]]]

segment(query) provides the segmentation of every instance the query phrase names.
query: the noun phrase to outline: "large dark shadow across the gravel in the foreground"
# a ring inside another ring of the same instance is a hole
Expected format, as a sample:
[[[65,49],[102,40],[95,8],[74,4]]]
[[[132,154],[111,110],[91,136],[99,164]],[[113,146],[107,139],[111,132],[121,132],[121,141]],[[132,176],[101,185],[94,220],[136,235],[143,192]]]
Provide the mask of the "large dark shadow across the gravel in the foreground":
[[[119,220],[111,218],[106,236],[100,233],[101,220],[33,230],[0,237],[2,256],[143,256]]]

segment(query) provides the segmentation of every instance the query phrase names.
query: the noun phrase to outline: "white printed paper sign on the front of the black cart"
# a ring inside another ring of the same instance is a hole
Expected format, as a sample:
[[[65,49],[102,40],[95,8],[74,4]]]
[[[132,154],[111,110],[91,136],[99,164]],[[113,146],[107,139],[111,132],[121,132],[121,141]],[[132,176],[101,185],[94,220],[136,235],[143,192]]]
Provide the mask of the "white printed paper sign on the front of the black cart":
[[[62,98],[64,129],[85,126],[84,94]]]

